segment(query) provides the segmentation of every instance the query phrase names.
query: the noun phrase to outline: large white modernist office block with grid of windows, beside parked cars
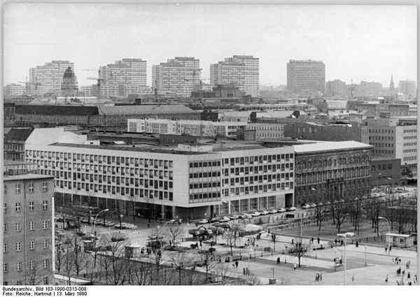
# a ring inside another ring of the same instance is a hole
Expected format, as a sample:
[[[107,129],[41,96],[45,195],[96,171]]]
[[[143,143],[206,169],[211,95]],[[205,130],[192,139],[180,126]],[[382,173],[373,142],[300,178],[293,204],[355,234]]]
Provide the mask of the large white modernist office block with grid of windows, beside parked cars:
[[[294,204],[293,147],[99,145],[64,128],[35,129],[25,158],[55,176],[58,205],[191,219]]]

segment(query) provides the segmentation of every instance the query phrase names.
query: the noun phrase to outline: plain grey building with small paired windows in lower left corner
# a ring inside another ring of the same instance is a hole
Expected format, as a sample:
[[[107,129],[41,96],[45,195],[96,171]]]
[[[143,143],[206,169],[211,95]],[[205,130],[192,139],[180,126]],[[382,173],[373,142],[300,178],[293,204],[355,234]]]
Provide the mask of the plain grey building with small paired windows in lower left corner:
[[[52,284],[54,178],[6,175],[3,184],[3,285]]]

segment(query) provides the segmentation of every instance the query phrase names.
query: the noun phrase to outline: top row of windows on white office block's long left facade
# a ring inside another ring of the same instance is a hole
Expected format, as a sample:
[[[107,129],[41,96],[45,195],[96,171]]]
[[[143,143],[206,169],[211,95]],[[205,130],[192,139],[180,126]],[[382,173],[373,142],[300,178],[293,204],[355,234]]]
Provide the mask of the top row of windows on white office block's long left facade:
[[[155,168],[158,167],[165,167],[165,168],[172,168],[174,166],[173,161],[169,160],[158,160],[158,159],[140,159],[134,157],[116,157],[116,156],[101,156],[97,154],[78,154],[78,153],[71,153],[71,152],[44,152],[39,150],[26,150],[26,157],[40,157],[41,159],[48,158],[55,158],[56,160],[64,159],[67,161],[72,159],[73,161],[78,162],[85,162],[90,161],[98,162],[102,164],[102,162],[106,164],[125,164],[126,166],[154,166]]]

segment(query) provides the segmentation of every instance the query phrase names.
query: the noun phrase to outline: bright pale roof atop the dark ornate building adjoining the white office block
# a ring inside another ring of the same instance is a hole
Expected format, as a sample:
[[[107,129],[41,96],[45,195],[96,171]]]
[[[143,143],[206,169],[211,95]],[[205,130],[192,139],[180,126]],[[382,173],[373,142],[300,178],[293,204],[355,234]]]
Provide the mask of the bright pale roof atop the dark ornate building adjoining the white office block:
[[[295,153],[304,152],[325,152],[330,150],[351,150],[351,149],[368,149],[372,148],[372,145],[365,143],[359,143],[357,141],[323,141],[317,143],[311,143],[307,145],[293,145]]]

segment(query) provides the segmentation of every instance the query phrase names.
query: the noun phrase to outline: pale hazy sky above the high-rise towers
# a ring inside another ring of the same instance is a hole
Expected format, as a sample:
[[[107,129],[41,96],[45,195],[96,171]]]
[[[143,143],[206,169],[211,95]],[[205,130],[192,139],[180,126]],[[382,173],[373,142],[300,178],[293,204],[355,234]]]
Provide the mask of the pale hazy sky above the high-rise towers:
[[[55,59],[75,64],[79,85],[123,58],[176,57],[209,64],[260,58],[260,84],[286,85],[289,59],[322,60],[326,80],[416,80],[415,6],[273,6],[11,3],[4,7],[5,84]],[[83,69],[93,68],[95,71]]]

